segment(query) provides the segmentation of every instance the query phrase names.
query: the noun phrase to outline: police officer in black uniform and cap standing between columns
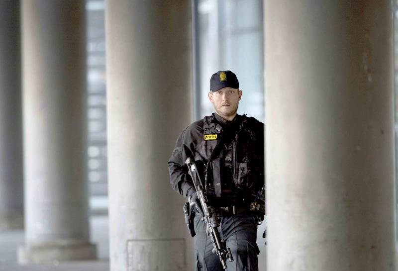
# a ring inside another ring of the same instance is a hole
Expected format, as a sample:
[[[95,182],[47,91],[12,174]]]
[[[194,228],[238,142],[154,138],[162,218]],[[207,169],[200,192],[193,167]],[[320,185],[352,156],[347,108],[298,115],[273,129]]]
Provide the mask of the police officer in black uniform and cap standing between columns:
[[[195,160],[200,179],[205,182],[208,205],[215,207],[220,217],[218,230],[234,258],[227,262],[227,270],[258,270],[257,225],[264,219],[264,206],[259,207],[256,198],[264,197],[264,124],[237,114],[241,97],[234,73],[213,74],[208,98],[215,113],[182,131],[168,162],[173,189],[187,197],[196,212],[197,271],[223,268],[212,253],[198,195],[185,165],[188,157]]]

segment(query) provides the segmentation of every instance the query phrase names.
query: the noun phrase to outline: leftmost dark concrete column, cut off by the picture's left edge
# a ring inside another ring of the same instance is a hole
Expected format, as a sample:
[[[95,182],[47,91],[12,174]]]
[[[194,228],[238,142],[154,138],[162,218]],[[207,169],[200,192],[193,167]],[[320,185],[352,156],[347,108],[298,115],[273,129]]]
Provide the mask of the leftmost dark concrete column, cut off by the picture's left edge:
[[[0,230],[23,228],[19,1],[0,1]]]

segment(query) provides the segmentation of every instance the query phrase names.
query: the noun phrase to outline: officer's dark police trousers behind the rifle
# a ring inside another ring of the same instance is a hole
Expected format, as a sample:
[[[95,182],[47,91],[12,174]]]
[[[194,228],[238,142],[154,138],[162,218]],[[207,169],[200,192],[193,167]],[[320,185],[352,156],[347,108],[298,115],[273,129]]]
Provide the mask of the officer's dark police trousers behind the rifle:
[[[218,256],[212,253],[213,243],[206,234],[204,220],[197,215],[194,222],[196,271],[224,271]],[[257,218],[249,213],[221,218],[218,231],[234,258],[233,262],[226,261],[227,271],[258,271],[257,223]]]

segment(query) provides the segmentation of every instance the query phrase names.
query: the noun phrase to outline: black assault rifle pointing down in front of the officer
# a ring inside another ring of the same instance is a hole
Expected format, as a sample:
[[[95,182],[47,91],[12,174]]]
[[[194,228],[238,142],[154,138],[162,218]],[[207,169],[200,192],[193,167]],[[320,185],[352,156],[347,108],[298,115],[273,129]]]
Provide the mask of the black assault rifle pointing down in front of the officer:
[[[214,207],[207,205],[207,197],[203,193],[203,185],[200,180],[195,161],[192,158],[188,158],[187,161],[185,161],[185,164],[188,166],[188,173],[191,176],[196,192],[198,193],[200,205],[204,213],[204,221],[206,222],[206,231],[207,234],[210,235],[211,241],[213,242],[212,252],[217,254],[222,268],[226,269],[227,265],[225,260],[228,259],[229,262],[232,262],[233,257],[231,250],[226,247],[225,241],[221,239],[220,233],[218,232],[217,228],[220,225],[219,218],[217,217]]]

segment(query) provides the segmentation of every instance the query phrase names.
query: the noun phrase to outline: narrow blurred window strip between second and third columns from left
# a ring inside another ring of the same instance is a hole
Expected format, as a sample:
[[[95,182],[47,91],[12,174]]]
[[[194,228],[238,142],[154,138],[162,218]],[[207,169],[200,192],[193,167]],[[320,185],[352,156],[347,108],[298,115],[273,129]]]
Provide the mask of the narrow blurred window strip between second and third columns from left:
[[[88,178],[93,196],[107,196],[105,2],[87,0]],[[98,205],[98,204],[97,204]]]

